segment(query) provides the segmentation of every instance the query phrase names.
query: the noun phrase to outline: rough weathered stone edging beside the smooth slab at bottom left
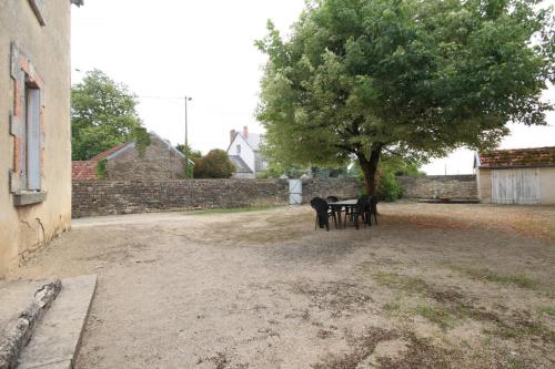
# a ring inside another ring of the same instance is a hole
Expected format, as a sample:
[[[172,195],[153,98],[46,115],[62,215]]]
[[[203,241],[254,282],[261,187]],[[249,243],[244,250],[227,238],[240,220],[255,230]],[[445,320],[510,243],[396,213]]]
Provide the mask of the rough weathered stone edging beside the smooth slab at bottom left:
[[[34,293],[33,300],[21,311],[18,319],[8,326],[7,337],[0,341],[0,369],[13,369],[18,366],[21,351],[61,289],[60,279],[43,285]]]

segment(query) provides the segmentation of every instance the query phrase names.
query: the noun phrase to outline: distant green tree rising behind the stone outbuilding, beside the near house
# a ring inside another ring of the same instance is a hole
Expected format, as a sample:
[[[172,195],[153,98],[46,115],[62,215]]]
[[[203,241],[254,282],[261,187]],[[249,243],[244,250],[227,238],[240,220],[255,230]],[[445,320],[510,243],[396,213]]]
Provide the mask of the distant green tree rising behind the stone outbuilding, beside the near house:
[[[71,88],[72,158],[89,160],[118,144],[137,140],[140,152],[150,136],[137,113],[137,98],[124,84],[99,70]]]

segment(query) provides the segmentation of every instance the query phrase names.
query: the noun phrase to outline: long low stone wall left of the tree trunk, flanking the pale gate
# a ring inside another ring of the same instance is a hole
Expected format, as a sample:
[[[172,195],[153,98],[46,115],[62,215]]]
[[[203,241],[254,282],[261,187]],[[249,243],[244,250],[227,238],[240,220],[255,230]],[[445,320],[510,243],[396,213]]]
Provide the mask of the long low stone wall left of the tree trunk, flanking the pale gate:
[[[303,180],[314,196],[356,197],[354,178]],[[73,217],[289,204],[286,180],[74,181]]]

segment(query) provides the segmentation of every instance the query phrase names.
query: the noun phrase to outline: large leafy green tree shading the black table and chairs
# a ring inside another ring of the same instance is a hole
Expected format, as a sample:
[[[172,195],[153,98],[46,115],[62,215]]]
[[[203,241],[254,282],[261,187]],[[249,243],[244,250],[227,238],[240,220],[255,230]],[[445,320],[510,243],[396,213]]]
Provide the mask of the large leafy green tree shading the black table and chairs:
[[[258,117],[281,162],[488,148],[507,122],[545,124],[553,13],[536,0],[314,0],[282,39],[272,22]]]

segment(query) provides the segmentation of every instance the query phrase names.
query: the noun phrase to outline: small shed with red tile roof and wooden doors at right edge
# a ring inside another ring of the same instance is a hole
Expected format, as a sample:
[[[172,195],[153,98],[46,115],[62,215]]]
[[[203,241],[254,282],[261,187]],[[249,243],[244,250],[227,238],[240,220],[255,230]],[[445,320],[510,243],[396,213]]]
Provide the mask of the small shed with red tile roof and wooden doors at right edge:
[[[555,146],[476,153],[482,203],[555,204]]]

